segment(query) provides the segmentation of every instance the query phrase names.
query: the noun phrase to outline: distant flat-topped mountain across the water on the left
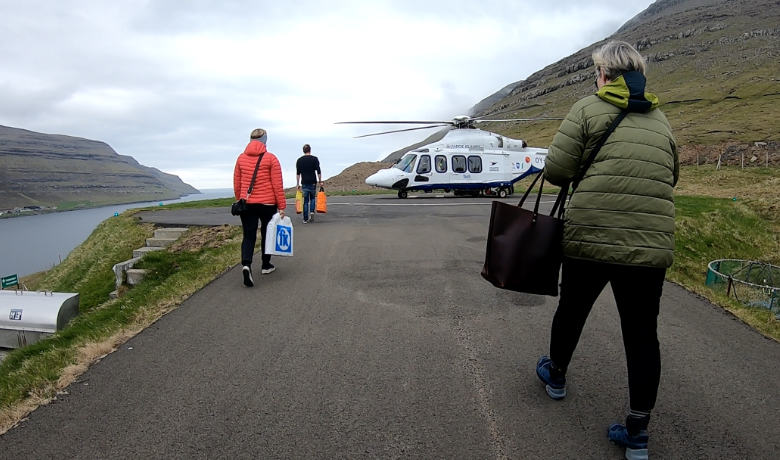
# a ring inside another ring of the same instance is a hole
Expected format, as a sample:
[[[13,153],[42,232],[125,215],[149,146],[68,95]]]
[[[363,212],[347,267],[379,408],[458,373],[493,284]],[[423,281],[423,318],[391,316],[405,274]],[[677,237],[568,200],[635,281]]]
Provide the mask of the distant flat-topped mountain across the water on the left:
[[[199,193],[108,144],[0,126],[0,210],[72,209]]]

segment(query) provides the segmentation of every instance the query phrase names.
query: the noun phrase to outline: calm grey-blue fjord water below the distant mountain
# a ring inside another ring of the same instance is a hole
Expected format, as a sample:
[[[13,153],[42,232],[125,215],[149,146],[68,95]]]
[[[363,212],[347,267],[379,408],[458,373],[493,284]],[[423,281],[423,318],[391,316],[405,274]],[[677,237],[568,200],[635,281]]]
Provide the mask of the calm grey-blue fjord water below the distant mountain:
[[[29,275],[60,263],[105,219],[131,208],[233,196],[232,189],[204,189],[162,202],[130,203],[78,211],[0,219],[0,276]]]

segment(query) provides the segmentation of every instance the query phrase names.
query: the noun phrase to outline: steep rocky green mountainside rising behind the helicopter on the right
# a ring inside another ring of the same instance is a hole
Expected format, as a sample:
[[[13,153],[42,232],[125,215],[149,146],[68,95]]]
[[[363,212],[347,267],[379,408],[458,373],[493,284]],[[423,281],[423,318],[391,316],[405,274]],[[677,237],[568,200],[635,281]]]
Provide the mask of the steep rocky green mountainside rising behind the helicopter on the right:
[[[486,98],[492,104],[473,115],[563,117],[595,91],[593,50],[624,40],[647,59],[648,91],[659,97],[683,160],[736,161],[747,153],[746,161],[778,165],[779,25],[777,0],[658,0],[607,39],[509,85],[509,94]],[[546,146],[559,124],[480,127]]]

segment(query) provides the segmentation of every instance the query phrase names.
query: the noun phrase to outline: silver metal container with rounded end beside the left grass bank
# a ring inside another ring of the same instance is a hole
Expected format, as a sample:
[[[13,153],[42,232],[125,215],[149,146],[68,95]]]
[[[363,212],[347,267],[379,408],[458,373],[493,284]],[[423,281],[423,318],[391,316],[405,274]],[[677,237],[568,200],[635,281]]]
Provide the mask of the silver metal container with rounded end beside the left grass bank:
[[[63,329],[78,312],[78,294],[0,291],[0,347],[35,343]]]

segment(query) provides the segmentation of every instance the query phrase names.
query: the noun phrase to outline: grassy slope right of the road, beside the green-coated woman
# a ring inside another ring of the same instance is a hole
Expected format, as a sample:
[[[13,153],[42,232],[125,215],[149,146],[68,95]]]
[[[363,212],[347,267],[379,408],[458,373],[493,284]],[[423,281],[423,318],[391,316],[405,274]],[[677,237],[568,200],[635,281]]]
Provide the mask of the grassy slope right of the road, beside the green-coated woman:
[[[780,170],[685,166],[676,189],[674,265],[680,284],[780,341],[780,321],[705,285],[707,264],[745,259],[780,265]]]

